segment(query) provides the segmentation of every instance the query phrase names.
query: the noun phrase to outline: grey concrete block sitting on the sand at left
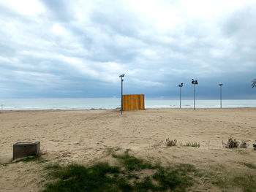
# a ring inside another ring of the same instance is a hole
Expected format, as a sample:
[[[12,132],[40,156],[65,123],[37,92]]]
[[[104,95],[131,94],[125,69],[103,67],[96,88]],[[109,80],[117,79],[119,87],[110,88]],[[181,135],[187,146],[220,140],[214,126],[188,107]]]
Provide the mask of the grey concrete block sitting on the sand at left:
[[[38,156],[40,142],[17,142],[13,145],[13,160],[29,156]]]

